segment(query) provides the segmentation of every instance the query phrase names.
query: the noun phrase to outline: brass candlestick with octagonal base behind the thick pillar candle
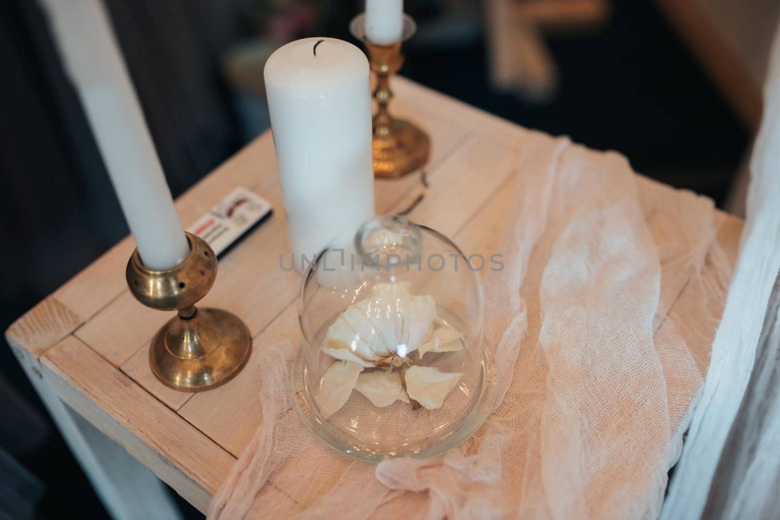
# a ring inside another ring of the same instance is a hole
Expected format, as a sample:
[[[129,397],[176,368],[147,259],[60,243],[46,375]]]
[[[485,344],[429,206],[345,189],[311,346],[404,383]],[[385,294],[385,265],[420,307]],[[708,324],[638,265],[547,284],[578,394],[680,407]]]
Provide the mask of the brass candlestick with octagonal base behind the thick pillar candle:
[[[401,177],[427,163],[431,153],[431,139],[409,121],[395,119],[388,111],[392,99],[390,77],[403,65],[401,44],[417,30],[411,16],[403,16],[401,40],[392,44],[374,44],[366,36],[366,15],[362,13],[349,23],[353,36],[362,41],[368,51],[371,70],[377,76],[374,100],[377,113],[372,120],[374,128],[374,176]]]

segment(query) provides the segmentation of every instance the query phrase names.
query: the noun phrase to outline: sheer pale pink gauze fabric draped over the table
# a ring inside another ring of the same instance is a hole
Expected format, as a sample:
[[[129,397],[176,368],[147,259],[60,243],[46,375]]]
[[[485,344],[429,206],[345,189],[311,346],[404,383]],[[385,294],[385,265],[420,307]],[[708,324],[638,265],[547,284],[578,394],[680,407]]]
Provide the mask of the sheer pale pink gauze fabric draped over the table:
[[[263,423],[209,518],[658,516],[730,278],[712,202],[538,132],[509,182],[505,269],[484,278],[498,395],[477,434],[438,459],[348,459],[296,413],[300,346],[271,345]]]

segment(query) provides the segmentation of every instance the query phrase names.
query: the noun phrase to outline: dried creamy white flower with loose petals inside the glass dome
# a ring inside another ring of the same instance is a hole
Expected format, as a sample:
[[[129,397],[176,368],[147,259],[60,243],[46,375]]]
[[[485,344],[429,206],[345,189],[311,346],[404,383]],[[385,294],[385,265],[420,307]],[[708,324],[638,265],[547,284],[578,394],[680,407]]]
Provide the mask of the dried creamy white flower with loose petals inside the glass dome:
[[[328,328],[320,349],[339,361],[323,375],[317,403],[327,418],[356,388],[379,408],[410,399],[428,409],[441,408],[461,374],[411,366],[409,355],[419,350],[422,359],[426,352],[462,348],[463,333],[436,316],[431,296],[411,294],[409,283],[378,283],[370,297],[351,305]],[[361,374],[378,367],[384,371]]]

